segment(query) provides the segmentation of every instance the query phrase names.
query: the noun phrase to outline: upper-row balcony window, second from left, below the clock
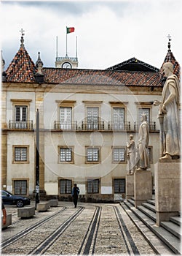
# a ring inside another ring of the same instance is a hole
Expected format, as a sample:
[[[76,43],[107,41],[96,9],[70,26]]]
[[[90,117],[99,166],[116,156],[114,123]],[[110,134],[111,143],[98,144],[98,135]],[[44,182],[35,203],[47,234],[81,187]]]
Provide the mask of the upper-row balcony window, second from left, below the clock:
[[[72,108],[60,107],[60,129],[71,129],[72,127]]]

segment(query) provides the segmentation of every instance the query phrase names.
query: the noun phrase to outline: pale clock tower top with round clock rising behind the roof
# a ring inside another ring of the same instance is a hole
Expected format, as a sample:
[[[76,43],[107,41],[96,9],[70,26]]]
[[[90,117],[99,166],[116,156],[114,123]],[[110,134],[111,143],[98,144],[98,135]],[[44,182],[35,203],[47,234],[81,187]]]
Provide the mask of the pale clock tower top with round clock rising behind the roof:
[[[76,69],[78,64],[78,58],[69,57],[68,54],[66,54],[66,57],[55,58],[55,67],[60,67],[62,69]]]

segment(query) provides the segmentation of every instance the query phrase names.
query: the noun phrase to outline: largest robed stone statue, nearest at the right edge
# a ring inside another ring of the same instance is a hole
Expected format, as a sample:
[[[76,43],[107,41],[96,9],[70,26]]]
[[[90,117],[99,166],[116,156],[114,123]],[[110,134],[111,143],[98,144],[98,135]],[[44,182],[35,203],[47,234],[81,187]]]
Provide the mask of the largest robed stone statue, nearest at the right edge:
[[[180,122],[179,122],[179,81],[173,74],[173,64],[166,62],[162,71],[167,80],[162,90],[162,100],[154,100],[159,105],[159,116],[162,116],[162,157],[160,159],[178,159],[180,156]],[[159,117],[158,116],[158,117]]]

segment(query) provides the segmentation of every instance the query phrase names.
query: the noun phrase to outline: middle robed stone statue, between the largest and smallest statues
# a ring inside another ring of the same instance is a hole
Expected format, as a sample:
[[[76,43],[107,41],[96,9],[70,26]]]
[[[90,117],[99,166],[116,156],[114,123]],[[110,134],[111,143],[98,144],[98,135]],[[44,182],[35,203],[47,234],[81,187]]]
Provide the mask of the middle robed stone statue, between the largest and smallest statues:
[[[149,125],[147,123],[147,116],[143,113],[141,116],[141,126],[138,131],[138,169],[137,170],[146,170],[150,167],[149,164]]]

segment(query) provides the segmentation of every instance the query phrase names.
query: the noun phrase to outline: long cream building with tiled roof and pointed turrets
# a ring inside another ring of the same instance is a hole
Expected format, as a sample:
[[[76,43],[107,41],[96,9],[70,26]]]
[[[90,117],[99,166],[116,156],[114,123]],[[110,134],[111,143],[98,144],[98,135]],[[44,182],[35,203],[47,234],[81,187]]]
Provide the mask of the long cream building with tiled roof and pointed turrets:
[[[138,141],[142,113],[150,127],[151,172],[159,159],[159,69],[132,58],[108,69],[44,68],[20,49],[2,74],[1,188],[34,197],[39,111],[40,198],[113,202],[125,197],[127,141]],[[179,65],[170,48],[165,61]],[[162,61],[163,62],[163,61]]]

